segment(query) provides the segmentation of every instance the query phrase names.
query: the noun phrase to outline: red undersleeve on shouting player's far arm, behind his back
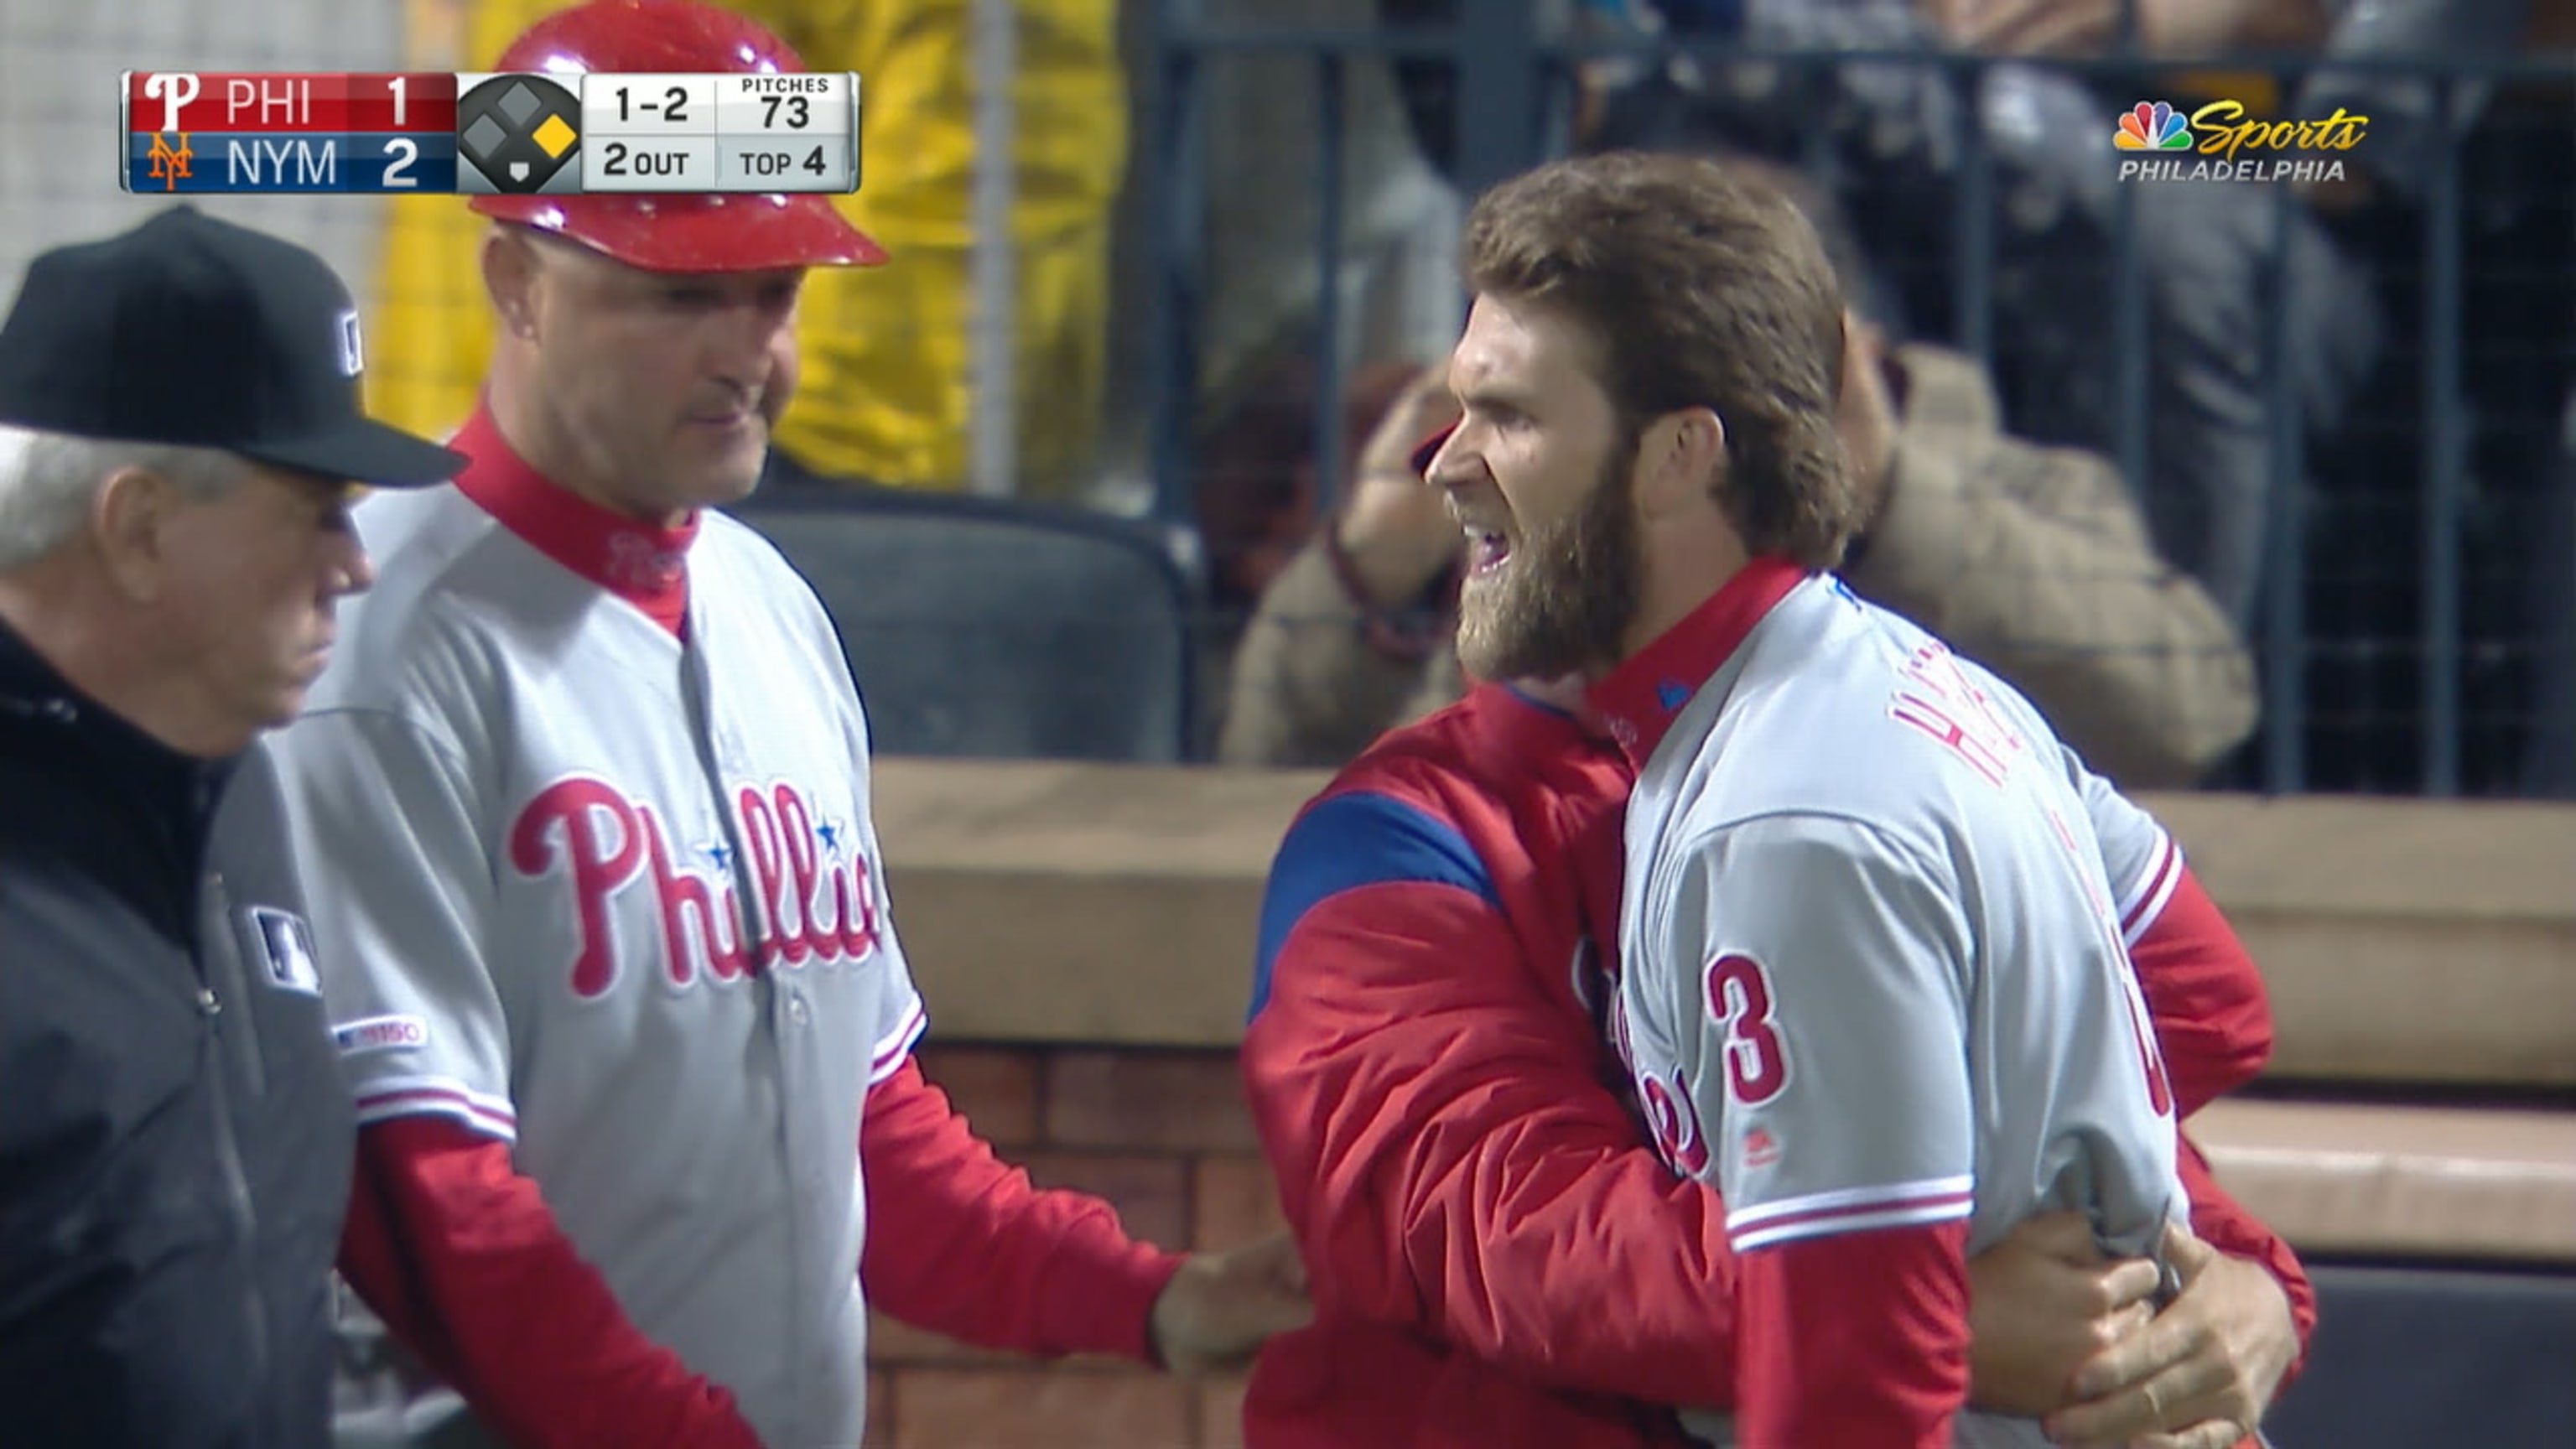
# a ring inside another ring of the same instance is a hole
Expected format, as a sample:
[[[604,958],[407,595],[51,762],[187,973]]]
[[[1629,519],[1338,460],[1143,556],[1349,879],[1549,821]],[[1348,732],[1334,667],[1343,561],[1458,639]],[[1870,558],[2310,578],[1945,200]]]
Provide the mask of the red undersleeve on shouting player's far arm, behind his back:
[[[2272,1003],[2254,957],[2190,869],[2128,959],[2182,1116],[2254,1080],[2272,1057]]]

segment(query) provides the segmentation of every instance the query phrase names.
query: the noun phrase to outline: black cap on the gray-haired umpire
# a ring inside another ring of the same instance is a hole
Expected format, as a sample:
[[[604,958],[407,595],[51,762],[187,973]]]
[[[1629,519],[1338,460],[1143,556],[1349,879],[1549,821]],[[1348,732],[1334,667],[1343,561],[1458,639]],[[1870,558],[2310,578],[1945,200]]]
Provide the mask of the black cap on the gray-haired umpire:
[[[173,206],[39,255],[0,325],[0,423],[224,449],[379,487],[466,456],[358,402],[358,307],[314,253]]]

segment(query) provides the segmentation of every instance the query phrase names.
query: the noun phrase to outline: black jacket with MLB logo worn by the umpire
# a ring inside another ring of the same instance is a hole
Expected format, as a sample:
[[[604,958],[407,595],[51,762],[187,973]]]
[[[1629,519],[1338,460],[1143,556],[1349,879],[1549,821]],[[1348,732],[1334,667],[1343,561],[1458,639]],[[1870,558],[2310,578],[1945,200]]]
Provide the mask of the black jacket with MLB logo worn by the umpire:
[[[355,1127],[301,905],[260,750],[0,624],[0,1449],[330,1444]]]

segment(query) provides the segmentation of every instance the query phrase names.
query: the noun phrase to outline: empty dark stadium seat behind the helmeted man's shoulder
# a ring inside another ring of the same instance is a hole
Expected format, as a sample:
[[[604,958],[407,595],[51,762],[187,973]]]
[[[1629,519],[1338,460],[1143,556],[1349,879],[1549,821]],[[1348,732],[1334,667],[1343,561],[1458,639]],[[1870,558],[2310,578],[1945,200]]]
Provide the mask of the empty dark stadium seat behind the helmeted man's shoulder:
[[[814,583],[878,753],[1185,758],[1195,590],[1157,531],[793,464],[732,513]]]

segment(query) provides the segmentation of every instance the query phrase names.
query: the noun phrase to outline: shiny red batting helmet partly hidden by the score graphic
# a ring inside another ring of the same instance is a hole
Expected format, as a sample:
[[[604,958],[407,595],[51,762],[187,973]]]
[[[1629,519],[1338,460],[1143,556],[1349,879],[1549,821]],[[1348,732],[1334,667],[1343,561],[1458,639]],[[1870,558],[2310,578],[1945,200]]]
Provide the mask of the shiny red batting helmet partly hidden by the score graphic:
[[[696,0],[590,0],[528,26],[495,70],[801,72],[786,41]],[[477,196],[477,211],[554,232],[644,271],[768,271],[886,260],[827,196]]]

